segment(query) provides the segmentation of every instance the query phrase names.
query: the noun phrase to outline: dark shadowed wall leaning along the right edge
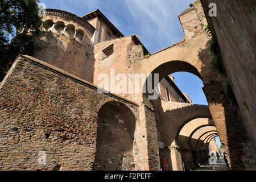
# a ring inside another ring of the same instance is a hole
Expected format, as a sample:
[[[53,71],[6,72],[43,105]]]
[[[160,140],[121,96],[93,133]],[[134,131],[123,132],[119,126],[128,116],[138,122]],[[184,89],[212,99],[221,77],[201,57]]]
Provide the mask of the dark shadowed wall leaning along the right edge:
[[[255,112],[255,1],[201,0],[213,27],[227,76],[236,95],[243,123],[256,147]],[[217,16],[209,17],[208,5],[216,3]]]

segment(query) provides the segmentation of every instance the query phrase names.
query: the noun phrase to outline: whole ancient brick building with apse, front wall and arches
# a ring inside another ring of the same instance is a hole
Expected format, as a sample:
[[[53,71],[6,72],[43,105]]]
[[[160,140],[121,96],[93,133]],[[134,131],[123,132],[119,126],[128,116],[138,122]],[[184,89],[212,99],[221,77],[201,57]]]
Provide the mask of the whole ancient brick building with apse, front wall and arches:
[[[253,142],[209,64],[201,3],[179,19],[185,39],[147,56],[138,36],[123,36],[100,10],[79,17],[47,9],[35,54],[18,56],[0,85],[0,169],[159,170],[167,159],[170,170],[190,170],[217,151],[216,136],[231,169],[255,169]],[[177,88],[170,75],[179,71],[201,78],[209,106]],[[100,75],[119,73],[123,86],[131,74],[158,73],[159,97],[112,92],[111,84],[98,92]]]

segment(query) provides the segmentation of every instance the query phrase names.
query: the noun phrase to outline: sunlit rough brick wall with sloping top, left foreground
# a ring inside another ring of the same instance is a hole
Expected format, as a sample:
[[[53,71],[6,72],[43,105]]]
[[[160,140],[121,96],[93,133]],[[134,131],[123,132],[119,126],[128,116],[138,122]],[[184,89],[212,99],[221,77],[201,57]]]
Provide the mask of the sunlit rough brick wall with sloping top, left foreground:
[[[119,102],[138,119],[137,105],[22,56],[3,80],[0,96],[1,170],[90,170],[101,106]],[[46,153],[46,165],[38,163],[40,151]],[[143,159],[135,163],[139,168]]]

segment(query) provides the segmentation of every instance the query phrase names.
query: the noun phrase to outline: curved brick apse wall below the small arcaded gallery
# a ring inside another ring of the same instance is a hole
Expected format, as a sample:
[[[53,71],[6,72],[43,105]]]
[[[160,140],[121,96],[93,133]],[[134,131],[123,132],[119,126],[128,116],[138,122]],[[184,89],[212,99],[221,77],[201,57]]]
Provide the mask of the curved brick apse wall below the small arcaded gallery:
[[[92,51],[90,44],[81,44],[68,36],[45,32],[45,35],[36,41],[33,57],[86,81],[92,81]]]

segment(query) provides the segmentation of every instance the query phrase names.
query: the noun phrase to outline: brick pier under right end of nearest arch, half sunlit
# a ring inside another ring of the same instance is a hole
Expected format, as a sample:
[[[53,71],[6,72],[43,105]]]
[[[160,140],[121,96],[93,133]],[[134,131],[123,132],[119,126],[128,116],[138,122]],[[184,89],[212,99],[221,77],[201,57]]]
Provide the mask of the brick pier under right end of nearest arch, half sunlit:
[[[221,143],[224,144],[230,169],[256,169],[255,147],[237,111],[225,96],[222,84],[207,85],[203,90]]]

